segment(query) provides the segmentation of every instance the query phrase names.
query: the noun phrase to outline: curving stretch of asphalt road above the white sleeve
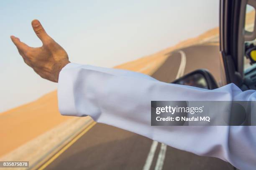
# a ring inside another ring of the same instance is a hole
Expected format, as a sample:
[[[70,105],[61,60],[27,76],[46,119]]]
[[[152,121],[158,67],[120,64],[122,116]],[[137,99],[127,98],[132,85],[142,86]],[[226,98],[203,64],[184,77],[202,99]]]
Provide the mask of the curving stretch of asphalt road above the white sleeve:
[[[186,54],[184,75],[194,70],[204,68],[210,71],[216,82],[221,80],[218,45],[197,45],[180,50]],[[166,54],[169,55],[167,60],[151,76],[163,82],[174,81],[181,62],[181,54],[178,51]]]

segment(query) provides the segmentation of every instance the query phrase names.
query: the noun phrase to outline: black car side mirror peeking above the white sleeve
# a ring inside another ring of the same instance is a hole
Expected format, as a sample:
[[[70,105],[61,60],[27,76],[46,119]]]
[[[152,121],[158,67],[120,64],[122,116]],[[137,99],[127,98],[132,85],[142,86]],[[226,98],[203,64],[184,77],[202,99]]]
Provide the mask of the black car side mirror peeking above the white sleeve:
[[[179,85],[190,85],[204,89],[215,89],[218,85],[208,70],[200,69],[190,72],[187,75],[172,82]]]

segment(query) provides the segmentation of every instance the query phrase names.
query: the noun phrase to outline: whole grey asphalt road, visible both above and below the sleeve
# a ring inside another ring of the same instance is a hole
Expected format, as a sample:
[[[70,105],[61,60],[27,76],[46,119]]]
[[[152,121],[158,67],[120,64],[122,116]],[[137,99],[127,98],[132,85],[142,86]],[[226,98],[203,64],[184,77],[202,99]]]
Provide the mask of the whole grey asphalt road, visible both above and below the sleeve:
[[[199,68],[208,69],[220,81],[219,47],[198,45],[182,50],[186,55],[182,74]],[[181,65],[181,52],[172,52],[166,62],[152,76],[164,82],[177,77]],[[184,64],[184,63],[183,63]],[[152,140],[113,126],[97,123],[73,145],[46,167],[46,170],[142,170]],[[163,158],[161,166],[157,160]],[[145,167],[144,167],[145,168]],[[150,168],[145,170],[233,170],[218,158],[201,157],[158,143]]]

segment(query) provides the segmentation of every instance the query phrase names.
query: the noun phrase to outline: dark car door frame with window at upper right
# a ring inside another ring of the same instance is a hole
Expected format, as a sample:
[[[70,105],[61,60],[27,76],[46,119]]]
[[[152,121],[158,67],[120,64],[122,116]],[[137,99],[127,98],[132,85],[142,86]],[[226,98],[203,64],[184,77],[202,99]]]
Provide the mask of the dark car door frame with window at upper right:
[[[220,53],[226,83],[256,89],[256,0],[220,0]],[[254,59],[253,59],[254,57]]]

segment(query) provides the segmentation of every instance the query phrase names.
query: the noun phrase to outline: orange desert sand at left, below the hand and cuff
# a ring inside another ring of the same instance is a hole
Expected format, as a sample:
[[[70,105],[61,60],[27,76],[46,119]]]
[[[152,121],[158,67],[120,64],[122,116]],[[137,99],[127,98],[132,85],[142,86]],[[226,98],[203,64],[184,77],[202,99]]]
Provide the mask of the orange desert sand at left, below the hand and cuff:
[[[72,117],[61,116],[56,91],[0,114],[0,156]]]

